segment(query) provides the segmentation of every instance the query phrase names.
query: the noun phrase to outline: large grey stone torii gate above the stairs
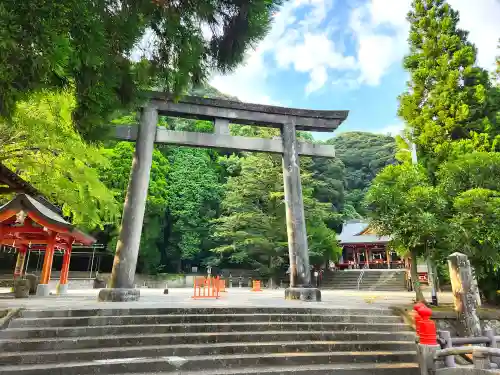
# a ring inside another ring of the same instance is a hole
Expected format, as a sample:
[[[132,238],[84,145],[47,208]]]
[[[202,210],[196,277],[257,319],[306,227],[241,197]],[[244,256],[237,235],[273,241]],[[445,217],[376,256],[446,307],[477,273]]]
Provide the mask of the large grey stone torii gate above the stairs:
[[[167,130],[157,126],[158,115],[210,120],[215,124],[215,133]],[[282,154],[290,260],[290,287],[286,289],[285,297],[308,301],[321,300],[319,289],[311,284],[299,155],[333,158],[335,150],[331,145],[300,142],[297,140],[296,131],[332,132],[347,115],[348,111],[283,108],[193,96],[174,101],[165,93],[148,93],[148,100],[141,108],[139,127],[122,126],[116,131],[117,139],[135,140],[136,148],[113,271],[108,288],[99,293],[99,300],[139,299],[139,289],[134,288],[134,276],[155,142]],[[230,122],[279,128],[281,138],[231,136]]]

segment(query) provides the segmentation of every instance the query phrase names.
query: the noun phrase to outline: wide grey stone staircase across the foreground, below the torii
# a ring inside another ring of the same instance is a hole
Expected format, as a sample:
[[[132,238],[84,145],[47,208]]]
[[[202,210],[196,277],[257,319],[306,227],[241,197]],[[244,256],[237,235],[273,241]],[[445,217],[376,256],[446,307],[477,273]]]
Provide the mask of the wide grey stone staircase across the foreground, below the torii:
[[[25,310],[0,374],[417,375],[414,340],[387,309]]]

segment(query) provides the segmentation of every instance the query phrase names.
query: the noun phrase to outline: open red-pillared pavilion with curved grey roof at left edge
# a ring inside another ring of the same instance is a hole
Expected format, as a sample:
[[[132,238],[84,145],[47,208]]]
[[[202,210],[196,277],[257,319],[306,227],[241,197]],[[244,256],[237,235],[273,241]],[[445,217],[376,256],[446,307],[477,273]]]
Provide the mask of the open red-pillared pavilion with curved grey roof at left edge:
[[[54,252],[63,252],[63,263],[58,292],[64,294],[68,287],[69,264],[74,245],[92,245],[95,239],[64,220],[51,207],[28,194],[18,194],[0,207],[0,244],[14,248],[17,261],[14,278],[22,277],[26,254],[44,252],[42,272],[37,295],[49,294],[49,281]]]

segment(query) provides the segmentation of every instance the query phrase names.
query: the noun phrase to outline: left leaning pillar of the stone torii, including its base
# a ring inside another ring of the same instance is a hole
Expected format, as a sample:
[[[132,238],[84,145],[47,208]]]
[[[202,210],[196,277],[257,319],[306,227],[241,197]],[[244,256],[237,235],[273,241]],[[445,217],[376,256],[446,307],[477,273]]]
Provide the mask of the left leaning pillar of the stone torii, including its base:
[[[99,292],[100,301],[136,301],[139,299],[139,289],[134,288],[134,277],[146,209],[157,123],[157,109],[152,105],[144,107],[141,113],[127,196],[123,206],[113,271],[108,288]]]

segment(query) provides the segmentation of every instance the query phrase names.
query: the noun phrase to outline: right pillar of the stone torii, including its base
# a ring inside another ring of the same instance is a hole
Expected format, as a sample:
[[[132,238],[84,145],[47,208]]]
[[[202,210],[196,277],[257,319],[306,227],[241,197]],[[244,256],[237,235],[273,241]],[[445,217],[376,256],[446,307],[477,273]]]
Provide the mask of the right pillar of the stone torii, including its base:
[[[290,287],[285,289],[285,298],[320,301],[320,290],[314,288],[311,284],[295,124],[284,124],[281,135],[283,139],[283,181],[290,259]]]

